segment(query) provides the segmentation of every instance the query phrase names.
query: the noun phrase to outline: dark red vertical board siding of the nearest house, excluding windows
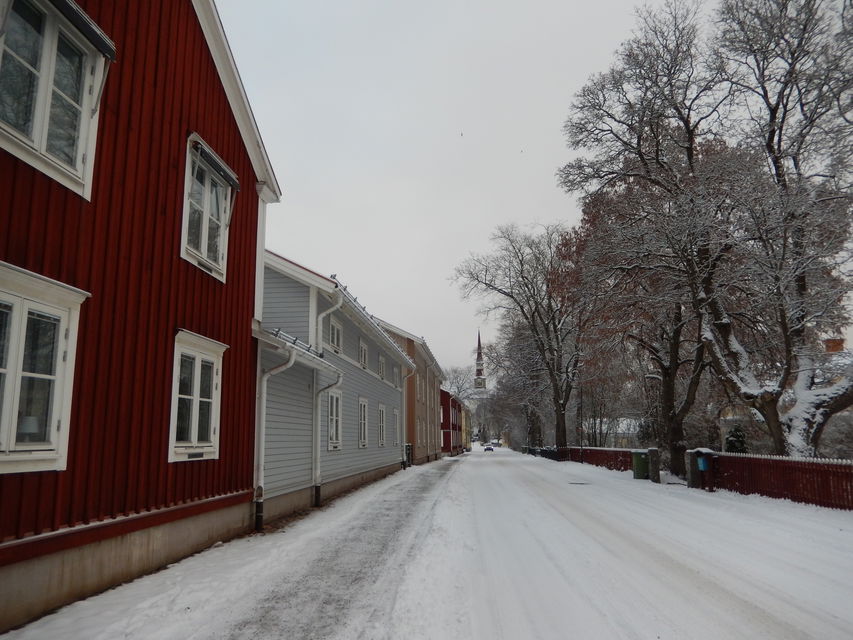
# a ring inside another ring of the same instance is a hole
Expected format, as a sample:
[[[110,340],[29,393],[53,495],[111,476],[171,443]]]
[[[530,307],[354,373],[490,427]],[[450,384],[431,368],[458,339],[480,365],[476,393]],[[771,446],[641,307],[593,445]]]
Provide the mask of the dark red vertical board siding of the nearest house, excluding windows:
[[[190,0],[78,0],[116,43],[92,201],[0,149],[0,259],[84,289],[68,467],[0,475],[0,543],[251,491],[257,179]],[[180,258],[187,137],[237,173],[227,283]],[[229,346],[218,460],[167,463],[174,337]]]

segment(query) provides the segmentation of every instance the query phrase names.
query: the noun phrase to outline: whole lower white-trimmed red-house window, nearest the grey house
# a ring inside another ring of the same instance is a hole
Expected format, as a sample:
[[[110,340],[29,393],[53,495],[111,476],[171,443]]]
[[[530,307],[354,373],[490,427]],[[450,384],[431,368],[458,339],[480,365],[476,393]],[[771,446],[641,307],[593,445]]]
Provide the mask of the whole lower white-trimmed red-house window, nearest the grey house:
[[[175,336],[169,462],[219,457],[221,342],[181,329]]]

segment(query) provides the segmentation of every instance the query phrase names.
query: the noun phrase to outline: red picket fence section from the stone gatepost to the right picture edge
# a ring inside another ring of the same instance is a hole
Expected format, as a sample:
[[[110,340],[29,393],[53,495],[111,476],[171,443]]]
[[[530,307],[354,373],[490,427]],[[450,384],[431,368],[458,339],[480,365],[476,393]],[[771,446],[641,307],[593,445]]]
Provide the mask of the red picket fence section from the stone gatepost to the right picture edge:
[[[714,486],[718,489],[853,509],[853,460],[713,455]]]

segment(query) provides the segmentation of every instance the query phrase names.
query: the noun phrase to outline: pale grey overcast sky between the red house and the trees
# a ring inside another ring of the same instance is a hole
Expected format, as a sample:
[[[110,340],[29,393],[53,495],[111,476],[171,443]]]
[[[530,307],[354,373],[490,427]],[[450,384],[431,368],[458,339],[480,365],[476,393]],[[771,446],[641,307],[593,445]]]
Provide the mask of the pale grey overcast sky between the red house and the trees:
[[[472,364],[494,322],[451,282],[500,224],[578,220],[554,177],[572,96],[630,0],[217,0],[284,190],[267,248]]]

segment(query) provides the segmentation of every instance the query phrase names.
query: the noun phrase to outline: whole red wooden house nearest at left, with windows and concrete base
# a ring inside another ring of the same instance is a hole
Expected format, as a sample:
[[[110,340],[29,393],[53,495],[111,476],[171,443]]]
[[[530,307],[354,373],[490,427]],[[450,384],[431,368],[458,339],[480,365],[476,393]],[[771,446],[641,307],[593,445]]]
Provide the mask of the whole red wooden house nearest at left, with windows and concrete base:
[[[0,0],[0,630],[248,530],[280,189],[212,0]]]

